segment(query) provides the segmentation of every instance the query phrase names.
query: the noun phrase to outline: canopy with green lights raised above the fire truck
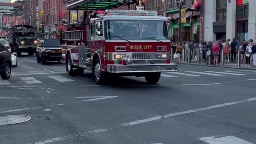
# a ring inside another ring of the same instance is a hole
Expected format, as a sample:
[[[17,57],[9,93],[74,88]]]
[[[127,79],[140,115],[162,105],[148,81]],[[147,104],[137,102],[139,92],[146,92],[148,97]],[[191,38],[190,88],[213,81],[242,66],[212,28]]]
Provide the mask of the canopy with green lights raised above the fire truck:
[[[68,10],[106,10],[111,6],[122,6],[123,3],[115,1],[109,2],[108,0],[100,0],[95,2],[94,0],[78,0],[72,4],[67,5]]]

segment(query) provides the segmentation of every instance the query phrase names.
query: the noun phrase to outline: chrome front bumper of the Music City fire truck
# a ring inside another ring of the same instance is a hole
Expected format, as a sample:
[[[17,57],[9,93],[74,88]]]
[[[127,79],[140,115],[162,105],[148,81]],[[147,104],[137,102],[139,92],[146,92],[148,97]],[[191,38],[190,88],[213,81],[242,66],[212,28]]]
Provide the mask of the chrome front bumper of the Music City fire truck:
[[[111,73],[126,72],[176,72],[177,64],[108,64],[107,71]]]

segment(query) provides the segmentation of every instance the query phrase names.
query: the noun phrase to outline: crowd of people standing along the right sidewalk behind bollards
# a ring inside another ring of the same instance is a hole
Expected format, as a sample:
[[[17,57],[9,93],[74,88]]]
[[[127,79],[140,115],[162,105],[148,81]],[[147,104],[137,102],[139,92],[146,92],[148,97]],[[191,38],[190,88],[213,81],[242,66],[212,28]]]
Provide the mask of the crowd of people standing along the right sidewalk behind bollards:
[[[180,64],[180,58],[182,54],[182,49],[193,50],[193,48],[199,48],[201,53],[201,58],[204,62],[209,64],[209,57],[211,57],[210,64],[218,66],[220,63],[220,54],[224,50],[224,61],[225,62],[236,62],[236,56],[238,50],[240,50],[240,62],[244,63],[246,61],[245,67],[250,67],[251,65],[256,67],[256,40],[244,40],[239,42],[238,38],[233,38],[232,42],[230,39],[222,41],[221,39],[215,42],[204,42],[201,41],[199,45],[191,42],[173,42],[171,44],[172,52],[176,55],[178,64]],[[184,52],[185,52],[184,51]]]

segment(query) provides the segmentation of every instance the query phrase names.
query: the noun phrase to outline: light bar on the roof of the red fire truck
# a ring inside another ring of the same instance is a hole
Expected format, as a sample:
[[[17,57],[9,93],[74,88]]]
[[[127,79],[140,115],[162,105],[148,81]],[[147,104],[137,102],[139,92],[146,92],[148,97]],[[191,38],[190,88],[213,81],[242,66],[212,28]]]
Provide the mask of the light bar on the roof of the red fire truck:
[[[105,10],[105,15],[122,15],[122,16],[157,16],[154,10]]]

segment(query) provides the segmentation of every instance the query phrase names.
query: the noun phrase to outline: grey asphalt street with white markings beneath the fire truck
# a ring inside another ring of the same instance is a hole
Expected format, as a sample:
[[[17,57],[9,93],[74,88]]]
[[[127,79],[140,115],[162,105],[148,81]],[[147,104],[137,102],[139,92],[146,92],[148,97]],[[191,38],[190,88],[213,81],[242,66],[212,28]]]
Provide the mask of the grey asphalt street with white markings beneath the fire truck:
[[[0,144],[256,144],[256,71],[178,66],[158,84],[120,77],[99,86],[89,71],[18,58],[0,79]]]

